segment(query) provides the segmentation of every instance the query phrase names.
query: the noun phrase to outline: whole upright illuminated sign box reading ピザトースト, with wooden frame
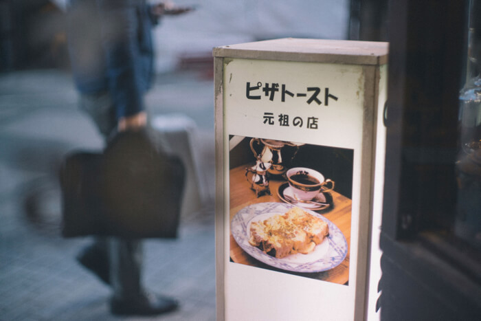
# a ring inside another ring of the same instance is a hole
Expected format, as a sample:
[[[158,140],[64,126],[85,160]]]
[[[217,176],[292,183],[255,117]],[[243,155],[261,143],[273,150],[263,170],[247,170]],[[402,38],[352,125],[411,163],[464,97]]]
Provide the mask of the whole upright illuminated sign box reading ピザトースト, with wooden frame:
[[[366,316],[387,57],[361,41],[214,48],[219,320]]]

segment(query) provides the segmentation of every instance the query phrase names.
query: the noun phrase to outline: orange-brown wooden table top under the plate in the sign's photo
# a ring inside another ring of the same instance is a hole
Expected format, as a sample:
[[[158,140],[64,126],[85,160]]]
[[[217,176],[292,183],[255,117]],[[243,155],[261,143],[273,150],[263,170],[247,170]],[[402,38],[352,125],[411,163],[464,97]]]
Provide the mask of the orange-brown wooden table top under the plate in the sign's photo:
[[[269,188],[271,195],[262,195],[256,197],[256,192],[251,190],[249,181],[245,178],[245,168],[251,164],[238,166],[230,170],[230,221],[234,215],[241,209],[255,203],[264,202],[282,202],[278,197],[278,188],[284,183],[282,179],[270,179]],[[349,280],[349,255],[350,255],[350,217],[352,201],[338,192],[331,191],[333,197],[333,206],[326,210],[318,211],[326,219],[333,222],[339,230],[342,231],[348,243],[348,254],[341,264],[333,269],[325,272],[315,273],[296,273],[289,272],[271,267],[265,263],[257,261],[255,258],[249,256],[234,240],[232,233],[230,233],[230,258],[235,263],[251,265],[254,267],[262,267],[274,271],[284,272],[288,274],[295,274],[315,278],[318,280],[325,280],[337,284],[347,284]]]

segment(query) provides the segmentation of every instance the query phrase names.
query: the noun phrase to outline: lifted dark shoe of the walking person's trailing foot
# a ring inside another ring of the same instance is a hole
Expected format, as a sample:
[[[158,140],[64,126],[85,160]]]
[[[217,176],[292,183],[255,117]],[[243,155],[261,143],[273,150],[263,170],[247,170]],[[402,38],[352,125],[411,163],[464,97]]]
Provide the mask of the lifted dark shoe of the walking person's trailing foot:
[[[95,243],[89,245],[78,254],[77,261],[98,276],[105,284],[110,284],[109,254],[106,249]]]

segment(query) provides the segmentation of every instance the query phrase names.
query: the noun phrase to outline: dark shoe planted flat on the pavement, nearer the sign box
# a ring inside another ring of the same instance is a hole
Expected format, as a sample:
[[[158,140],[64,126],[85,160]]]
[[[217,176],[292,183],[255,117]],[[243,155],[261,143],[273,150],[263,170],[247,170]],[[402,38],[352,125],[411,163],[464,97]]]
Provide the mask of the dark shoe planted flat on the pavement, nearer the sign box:
[[[110,309],[115,315],[122,316],[153,316],[161,313],[174,311],[179,303],[165,296],[155,294],[143,294],[130,300],[111,300]]]

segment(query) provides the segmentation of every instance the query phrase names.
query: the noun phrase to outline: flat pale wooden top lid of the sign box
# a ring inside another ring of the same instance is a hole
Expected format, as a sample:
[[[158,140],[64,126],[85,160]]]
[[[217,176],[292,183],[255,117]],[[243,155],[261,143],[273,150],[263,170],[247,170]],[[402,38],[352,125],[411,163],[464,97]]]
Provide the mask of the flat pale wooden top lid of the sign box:
[[[388,43],[280,38],[214,47],[212,54],[224,58],[383,65],[388,63]]]

